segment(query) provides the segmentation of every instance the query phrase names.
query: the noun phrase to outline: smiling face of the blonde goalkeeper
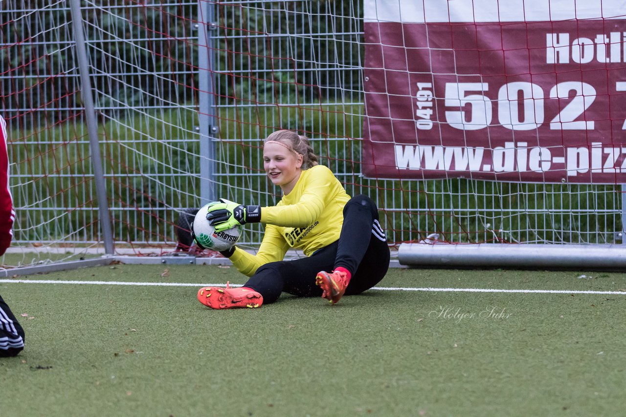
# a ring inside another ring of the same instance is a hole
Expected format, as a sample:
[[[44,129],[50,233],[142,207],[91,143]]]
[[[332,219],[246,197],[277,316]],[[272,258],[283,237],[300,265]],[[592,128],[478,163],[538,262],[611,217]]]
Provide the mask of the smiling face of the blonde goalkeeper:
[[[266,143],[263,147],[263,167],[272,184],[289,194],[302,173],[302,155],[278,143]]]

